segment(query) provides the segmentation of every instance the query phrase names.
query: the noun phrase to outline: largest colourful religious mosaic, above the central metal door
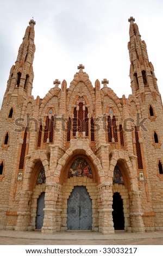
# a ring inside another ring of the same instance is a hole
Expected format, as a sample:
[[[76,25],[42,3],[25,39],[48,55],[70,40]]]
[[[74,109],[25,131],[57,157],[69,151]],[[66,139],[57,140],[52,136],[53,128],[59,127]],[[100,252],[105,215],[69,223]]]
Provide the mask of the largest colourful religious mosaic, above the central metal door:
[[[68,178],[73,176],[87,176],[89,178],[93,177],[91,167],[82,157],[79,157],[71,164],[68,171]]]

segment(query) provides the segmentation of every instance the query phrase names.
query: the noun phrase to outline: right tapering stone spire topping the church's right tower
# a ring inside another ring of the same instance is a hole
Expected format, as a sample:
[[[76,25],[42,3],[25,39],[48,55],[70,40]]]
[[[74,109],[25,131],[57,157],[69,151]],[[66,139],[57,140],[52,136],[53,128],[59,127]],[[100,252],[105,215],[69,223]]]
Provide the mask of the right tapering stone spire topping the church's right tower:
[[[130,22],[128,50],[130,57],[130,79],[133,94],[144,94],[146,90],[152,93],[158,92],[154,68],[148,59],[147,46],[141,40],[139,28],[133,17]]]

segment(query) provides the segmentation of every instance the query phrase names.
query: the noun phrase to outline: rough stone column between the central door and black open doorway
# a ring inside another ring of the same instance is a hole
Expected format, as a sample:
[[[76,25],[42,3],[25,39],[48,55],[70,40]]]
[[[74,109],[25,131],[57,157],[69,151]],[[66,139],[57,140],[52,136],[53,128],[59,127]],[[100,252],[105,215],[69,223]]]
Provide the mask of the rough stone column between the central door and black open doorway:
[[[99,194],[101,198],[101,231],[102,234],[114,234],[114,223],[112,221],[112,184],[103,182],[99,185]]]

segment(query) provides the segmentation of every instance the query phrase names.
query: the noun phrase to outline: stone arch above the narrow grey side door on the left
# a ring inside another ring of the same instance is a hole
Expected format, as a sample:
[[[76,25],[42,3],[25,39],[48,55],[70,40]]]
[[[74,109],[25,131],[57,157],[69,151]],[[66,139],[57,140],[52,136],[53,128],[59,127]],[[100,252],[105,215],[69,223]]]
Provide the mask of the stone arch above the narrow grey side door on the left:
[[[36,165],[37,164],[37,165]],[[46,150],[36,150],[32,157],[29,156],[29,161],[26,164],[24,170],[23,186],[22,190],[32,191],[34,177],[36,174],[39,174],[41,164],[45,169],[45,175],[47,181],[49,181],[49,155]],[[33,169],[36,167],[36,172],[33,172]]]

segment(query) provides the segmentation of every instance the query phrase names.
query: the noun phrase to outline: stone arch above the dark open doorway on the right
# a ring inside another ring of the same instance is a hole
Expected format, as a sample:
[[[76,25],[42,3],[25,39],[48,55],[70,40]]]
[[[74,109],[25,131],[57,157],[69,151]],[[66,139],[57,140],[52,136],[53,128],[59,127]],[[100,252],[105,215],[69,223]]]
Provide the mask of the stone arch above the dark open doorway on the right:
[[[121,169],[122,175],[124,175],[124,183],[128,187],[128,191],[138,190],[137,174],[134,171],[131,161],[129,159],[127,151],[113,150],[111,154],[110,166],[109,166],[109,179],[112,181],[114,168],[117,166]]]

